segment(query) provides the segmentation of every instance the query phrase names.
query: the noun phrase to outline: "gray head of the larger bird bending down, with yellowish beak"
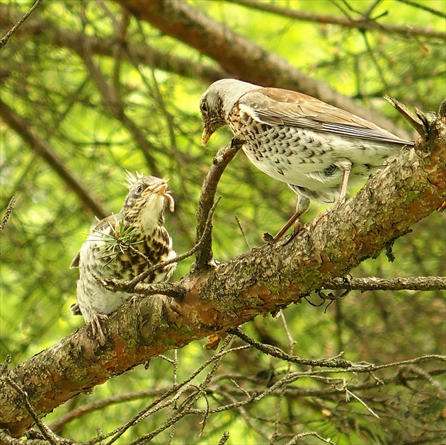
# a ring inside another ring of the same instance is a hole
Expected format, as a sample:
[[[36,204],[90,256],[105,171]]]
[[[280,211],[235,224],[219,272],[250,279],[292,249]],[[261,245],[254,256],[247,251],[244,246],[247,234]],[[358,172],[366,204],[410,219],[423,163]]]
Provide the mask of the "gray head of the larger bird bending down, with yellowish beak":
[[[256,88],[261,87],[236,79],[221,79],[207,88],[200,100],[200,112],[204,127],[201,138],[203,145],[217,129],[227,125],[229,113],[239,98]]]

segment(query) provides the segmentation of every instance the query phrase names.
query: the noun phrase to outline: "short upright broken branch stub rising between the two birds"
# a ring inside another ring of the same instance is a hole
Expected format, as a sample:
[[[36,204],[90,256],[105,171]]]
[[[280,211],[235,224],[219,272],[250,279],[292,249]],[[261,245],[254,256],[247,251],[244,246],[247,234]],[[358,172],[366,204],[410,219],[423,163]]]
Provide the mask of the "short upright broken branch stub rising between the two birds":
[[[243,141],[232,139],[229,144],[217,151],[215,158],[212,160],[212,166],[207,172],[206,178],[203,181],[200,200],[197,206],[197,243],[202,241],[200,249],[195,254],[195,262],[190,268],[190,272],[198,272],[199,270],[210,267],[212,261],[212,223],[210,230],[206,233],[207,221],[210,212],[214,206],[215,193],[217,192],[217,185],[224,169],[229,162],[234,158],[237,151],[241,149]]]

